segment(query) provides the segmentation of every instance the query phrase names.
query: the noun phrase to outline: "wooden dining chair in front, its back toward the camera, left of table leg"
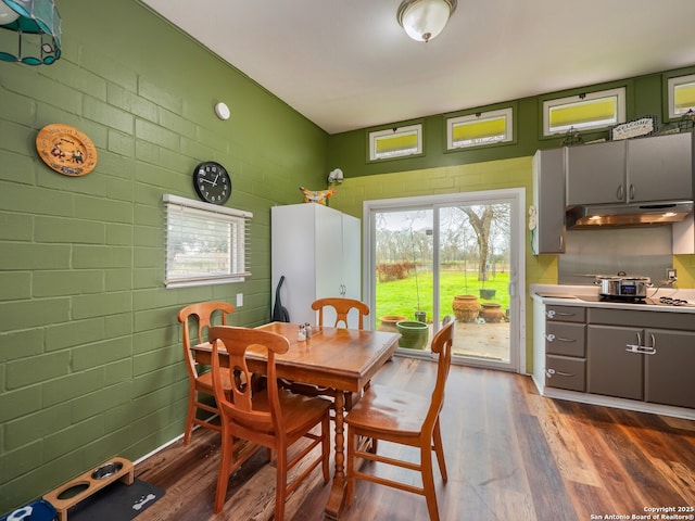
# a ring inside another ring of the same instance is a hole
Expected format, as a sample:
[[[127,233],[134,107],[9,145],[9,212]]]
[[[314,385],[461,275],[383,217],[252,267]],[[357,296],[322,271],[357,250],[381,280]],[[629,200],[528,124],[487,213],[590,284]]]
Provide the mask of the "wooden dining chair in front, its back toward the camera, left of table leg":
[[[268,449],[277,458],[275,492],[275,519],[285,519],[285,501],[298,485],[319,465],[324,483],[328,483],[328,459],[330,455],[330,402],[319,397],[293,394],[279,389],[276,378],[275,355],[287,353],[289,341],[277,333],[257,329],[215,327],[210,331],[213,342],[212,373],[215,398],[222,414],[222,458],[215,494],[215,513],[224,504],[229,474],[237,470],[258,448]],[[267,352],[267,385],[254,390],[248,382],[254,374],[247,364],[247,351],[262,347]],[[226,351],[227,354],[220,354]],[[220,367],[222,357],[227,357],[228,368]],[[225,392],[224,382],[232,382],[232,398]],[[314,429],[320,424],[320,434]],[[288,448],[300,440],[308,444],[290,459]],[[251,444],[251,446],[249,446]],[[315,448],[320,446],[320,455]],[[288,484],[288,471],[307,459],[301,474]]]

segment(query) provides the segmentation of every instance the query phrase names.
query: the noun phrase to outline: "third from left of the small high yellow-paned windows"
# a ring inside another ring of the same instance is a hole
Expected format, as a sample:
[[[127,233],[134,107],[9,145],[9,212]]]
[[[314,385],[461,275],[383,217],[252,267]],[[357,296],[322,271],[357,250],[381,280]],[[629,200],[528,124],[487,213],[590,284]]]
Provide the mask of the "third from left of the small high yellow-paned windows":
[[[592,130],[626,120],[626,89],[602,90],[543,102],[543,136]]]

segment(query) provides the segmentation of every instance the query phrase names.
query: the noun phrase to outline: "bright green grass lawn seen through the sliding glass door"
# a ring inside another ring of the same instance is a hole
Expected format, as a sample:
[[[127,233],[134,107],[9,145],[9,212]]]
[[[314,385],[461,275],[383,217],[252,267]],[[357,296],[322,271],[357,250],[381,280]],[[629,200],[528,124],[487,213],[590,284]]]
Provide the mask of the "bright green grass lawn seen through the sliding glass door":
[[[509,272],[497,272],[490,275],[490,280],[483,282],[478,280],[477,271],[469,271],[466,277],[459,270],[440,272],[440,313],[443,315],[453,314],[452,303],[456,295],[476,295],[480,303],[496,302],[502,305],[502,309],[509,307]],[[495,296],[490,300],[480,297],[480,289],[495,290]],[[419,294],[419,306],[418,306]],[[408,278],[388,282],[377,282],[377,309],[375,320],[384,315],[400,315],[408,320],[415,319],[415,312],[418,309],[427,314],[427,321],[432,321],[432,272],[418,272],[417,277],[410,275]],[[378,326],[378,322],[377,322]]]

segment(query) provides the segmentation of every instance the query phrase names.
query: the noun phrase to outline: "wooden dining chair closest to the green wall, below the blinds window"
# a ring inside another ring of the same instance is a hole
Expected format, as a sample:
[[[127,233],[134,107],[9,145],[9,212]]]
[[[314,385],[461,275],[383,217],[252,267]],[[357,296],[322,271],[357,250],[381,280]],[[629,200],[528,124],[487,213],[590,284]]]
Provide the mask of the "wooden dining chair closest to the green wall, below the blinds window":
[[[184,325],[184,360],[186,361],[186,371],[188,372],[188,410],[186,412],[186,427],[184,431],[184,444],[191,441],[193,424],[222,432],[222,428],[216,423],[212,423],[211,419],[198,418],[198,410],[204,410],[213,415],[218,415],[219,410],[212,404],[213,396],[213,379],[207,367],[199,367],[193,357],[191,346],[206,341],[210,328],[213,325],[213,317],[218,316],[222,325],[227,325],[227,315],[233,313],[235,306],[226,302],[201,302],[184,307],[178,312],[178,321]],[[227,393],[231,392],[231,382],[226,381],[223,384]],[[208,395],[208,403],[203,402],[199,393]]]

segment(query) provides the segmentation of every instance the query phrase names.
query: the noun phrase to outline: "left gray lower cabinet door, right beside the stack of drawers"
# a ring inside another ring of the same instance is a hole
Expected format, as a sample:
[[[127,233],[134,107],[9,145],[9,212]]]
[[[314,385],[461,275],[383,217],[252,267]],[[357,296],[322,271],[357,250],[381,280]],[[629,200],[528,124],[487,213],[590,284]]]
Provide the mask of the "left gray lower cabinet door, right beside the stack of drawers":
[[[641,330],[587,326],[586,391],[619,398],[644,399],[644,355],[627,351],[639,345]]]

